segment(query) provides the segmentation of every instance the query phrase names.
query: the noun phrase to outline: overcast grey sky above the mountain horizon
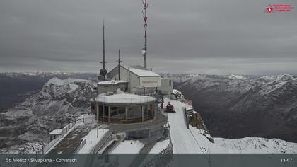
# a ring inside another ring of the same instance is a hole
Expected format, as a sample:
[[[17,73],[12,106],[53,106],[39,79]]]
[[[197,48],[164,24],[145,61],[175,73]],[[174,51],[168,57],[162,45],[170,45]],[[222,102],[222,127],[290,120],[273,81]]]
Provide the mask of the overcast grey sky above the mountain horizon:
[[[297,6],[279,0],[148,0],[148,68],[199,74],[297,74]],[[141,0],[1,0],[0,71],[107,70],[117,50],[143,64]]]

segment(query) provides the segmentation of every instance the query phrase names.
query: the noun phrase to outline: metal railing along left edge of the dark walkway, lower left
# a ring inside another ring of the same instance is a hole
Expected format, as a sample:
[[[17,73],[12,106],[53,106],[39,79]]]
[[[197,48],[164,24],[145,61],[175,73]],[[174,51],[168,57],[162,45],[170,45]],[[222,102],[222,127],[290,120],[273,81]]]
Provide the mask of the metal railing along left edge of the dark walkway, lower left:
[[[54,144],[59,142],[59,140],[62,139],[62,137],[64,137],[72,129],[72,127],[74,127],[75,124],[76,124],[76,122],[66,125],[62,129],[62,132],[59,132],[59,134],[57,134],[56,137],[54,137],[54,139],[50,140],[50,142],[47,142],[47,144],[45,144],[45,146],[42,146],[42,149],[37,151],[36,154],[47,153],[47,151],[49,151],[52,148],[52,146],[54,146]]]

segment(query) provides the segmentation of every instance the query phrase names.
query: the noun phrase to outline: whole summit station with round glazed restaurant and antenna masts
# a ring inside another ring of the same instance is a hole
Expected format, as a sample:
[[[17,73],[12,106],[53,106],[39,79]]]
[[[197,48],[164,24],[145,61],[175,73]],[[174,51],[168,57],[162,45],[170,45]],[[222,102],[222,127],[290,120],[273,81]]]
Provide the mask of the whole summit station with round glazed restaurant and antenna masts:
[[[118,50],[117,66],[108,71],[105,69],[105,24],[103,23],[103,64],[100,70],[100,79],[96,88],[96,96],[91,102],[91,112],[95,119],[100,122],[104,120],[107,124],[130,124],[144,123],[151,120],[153,125],[148,124],[144,129],[136,127],[133,132],[127,133],[129,137],[151,138],[152,132],[156,137],[161,137],[166,117],[159,115],[156,111],[158,102],[164,96],[170,97],[173,91],[171,79],[163,79],[151,69],[147,69],[147,16],[146,0],[142,1],[144,8],[144,65],[122,65],[122,59]],[[102,121],[103,122],[103,121]],[[134,133],[135,132],[135,133]],[[141,136],[142,135],[142,136]]]

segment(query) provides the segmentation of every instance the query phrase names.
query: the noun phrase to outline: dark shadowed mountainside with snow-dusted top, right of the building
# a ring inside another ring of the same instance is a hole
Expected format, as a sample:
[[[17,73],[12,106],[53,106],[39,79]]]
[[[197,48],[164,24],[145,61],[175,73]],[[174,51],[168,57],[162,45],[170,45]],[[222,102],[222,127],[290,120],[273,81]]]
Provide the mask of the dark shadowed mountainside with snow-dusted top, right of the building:
[[[174,76],[173,76],[174,77]],[[180,76],[182,78],[182,76]],[[297,78],[194,75],[175,88],[193,100],[211,136],[297,142]]]

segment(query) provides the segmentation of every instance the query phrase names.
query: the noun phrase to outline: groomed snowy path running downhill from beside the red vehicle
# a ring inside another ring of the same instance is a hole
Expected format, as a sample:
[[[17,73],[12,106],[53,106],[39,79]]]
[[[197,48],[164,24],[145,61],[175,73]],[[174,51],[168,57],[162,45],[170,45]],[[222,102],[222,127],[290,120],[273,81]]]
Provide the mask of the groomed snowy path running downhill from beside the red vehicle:
[[[168,99],[165,100],[165,104],[167,103]],[[170,103],[173,104],[176,111],[176,113],[168,114],[173,153],[203,153],[190,130],[186,127],[183,111],[184,104],[176,100],[170,100]]]

